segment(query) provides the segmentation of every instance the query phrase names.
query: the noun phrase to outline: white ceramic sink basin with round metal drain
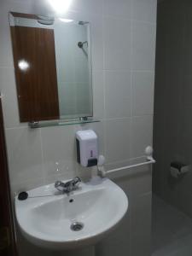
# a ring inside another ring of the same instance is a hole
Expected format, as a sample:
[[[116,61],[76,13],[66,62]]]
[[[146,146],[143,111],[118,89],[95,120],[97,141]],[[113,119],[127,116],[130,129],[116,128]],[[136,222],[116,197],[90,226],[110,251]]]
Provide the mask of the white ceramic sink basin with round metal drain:
[[[128,208],[125,192],[108,178],[80,183],[70,195],[54,184],[15,197],[15,213],[22,234],[40,247],[71,249],[96,244],[112,231]]]

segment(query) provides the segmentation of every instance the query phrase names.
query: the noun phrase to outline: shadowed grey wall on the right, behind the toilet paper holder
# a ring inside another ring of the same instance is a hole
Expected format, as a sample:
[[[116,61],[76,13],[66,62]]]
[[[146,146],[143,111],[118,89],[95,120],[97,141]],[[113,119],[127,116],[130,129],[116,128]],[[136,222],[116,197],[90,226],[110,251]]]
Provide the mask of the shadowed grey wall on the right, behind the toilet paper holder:
[[[161,198],[192,217],[192,3],[166,0],[158,4],[154,93],[153,189]],[[171,177],[172,161],[189,173]]]

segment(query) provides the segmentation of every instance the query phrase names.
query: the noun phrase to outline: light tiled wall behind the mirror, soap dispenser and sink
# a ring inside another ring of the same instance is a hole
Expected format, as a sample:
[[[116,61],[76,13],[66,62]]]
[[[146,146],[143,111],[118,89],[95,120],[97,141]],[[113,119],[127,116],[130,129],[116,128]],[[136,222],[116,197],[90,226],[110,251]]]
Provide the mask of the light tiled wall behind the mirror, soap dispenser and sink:
[[[107,168],[143,160],[153,132],[156,0],[73,0],[64,17],[90,20],[94,117],[102,121],[34,130],[19,122],[8,12],[53,15],[53,11],[45,0],[3,0],[0,7],[0,88],[13,195],[56,179],[89,176],[89,170],[76,163],[74,134],[79,129],[96,131]],[[119,229],[96,246],[96,255],[148,256],[150,167],[112,178],[129,196],[129,212]],[[20,244],[21,256],[52,255],[22,238]]]

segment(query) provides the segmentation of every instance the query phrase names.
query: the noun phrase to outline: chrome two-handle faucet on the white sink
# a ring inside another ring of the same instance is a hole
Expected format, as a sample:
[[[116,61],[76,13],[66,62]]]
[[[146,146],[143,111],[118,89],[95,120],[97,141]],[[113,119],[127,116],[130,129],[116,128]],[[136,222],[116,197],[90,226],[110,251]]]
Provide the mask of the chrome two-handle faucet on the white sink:
[[[67,183],[62,183],[61,181],[55,182],[55,189],[59,190],[62,193],[70,193],[75,189],[78,189],[79,183],[81,182],[80,177],[74,177],[72,180]]]

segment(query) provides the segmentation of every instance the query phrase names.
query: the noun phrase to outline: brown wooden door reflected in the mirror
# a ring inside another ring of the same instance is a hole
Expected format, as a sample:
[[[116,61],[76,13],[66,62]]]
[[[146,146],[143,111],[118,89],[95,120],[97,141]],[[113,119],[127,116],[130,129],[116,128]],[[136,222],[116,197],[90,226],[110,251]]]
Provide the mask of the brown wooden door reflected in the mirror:
[[[59,119],[54,30],[11,26],[20,122]]]

